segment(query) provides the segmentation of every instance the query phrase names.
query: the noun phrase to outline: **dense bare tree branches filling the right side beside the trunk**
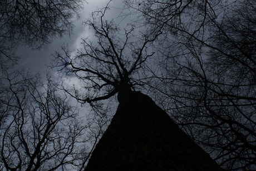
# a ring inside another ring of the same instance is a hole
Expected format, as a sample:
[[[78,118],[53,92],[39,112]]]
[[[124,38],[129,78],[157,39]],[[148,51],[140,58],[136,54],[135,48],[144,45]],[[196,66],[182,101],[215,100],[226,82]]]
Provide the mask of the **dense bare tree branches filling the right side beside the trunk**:
[[[221,167],[255,170],[255,1],[181,2],[133,6],[164,33],[148,85]]]

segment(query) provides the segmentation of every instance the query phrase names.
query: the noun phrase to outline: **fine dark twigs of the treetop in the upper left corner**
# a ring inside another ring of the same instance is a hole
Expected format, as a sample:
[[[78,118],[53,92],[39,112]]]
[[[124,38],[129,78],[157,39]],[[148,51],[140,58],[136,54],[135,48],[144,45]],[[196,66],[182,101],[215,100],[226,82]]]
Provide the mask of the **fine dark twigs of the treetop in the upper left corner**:
[[[53,39],[71,34],[72,19],[78,17],[83,0],[4,0],[0,2],[0,67],[18,60],[19,45],[47,47]]]

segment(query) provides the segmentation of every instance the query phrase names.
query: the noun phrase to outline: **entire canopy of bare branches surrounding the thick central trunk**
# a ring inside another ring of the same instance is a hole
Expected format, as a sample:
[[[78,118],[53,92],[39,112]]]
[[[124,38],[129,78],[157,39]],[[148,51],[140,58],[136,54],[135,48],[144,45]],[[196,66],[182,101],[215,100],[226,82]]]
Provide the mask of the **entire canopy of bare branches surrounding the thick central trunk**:
[[[71,31],[81,2],[1,1],[1,44],[42,47]],[[87,16],[93,35],[80,47],[55,53],[57,82],[2,70],[1,169],[83,170],[125,84],[149,95],[220,167],[255,170],[256,1],[114,2]],[[108,18],[112,9],[118,17]]]

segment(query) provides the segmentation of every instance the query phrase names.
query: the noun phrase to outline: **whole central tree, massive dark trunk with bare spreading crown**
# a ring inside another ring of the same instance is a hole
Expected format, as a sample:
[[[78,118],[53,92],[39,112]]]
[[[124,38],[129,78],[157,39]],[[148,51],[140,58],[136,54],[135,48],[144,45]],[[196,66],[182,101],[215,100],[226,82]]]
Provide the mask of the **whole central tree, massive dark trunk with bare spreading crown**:
[[[56,54],[60,71],[82,83],[62,86],[79,102],[95,107],[99,100],[118,94],[117,112],[85,170],[221,170],[164,110],[135,91],[143,86],[145,63],[154,55],[148,53],[149,46],[160,33],[136,38],[133,26],[121,33],[114,21],[105,20],[106,10],[93,13],[85,23],[95,40],[84,39],[75,55],[66,49]]]

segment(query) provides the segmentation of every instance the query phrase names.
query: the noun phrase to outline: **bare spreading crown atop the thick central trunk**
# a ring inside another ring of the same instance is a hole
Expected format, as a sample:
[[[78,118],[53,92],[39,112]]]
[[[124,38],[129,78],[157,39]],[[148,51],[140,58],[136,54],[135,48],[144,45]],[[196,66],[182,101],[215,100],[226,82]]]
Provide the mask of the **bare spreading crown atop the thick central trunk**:
[[[85,22],[95,32],[96,41],[83,39],[83,49],[75,56],[71,56],[66,48],[63,48],[64,54],[56,54],[56,66],[60,71],[73,73],[83,84],[83,89],[76,85],[67,89],[67,93],[81,103],[108,99],[119,92],[122,84],[129,84],[129,87],[140,85],[136,77],[131,76],[140,72],[147,58],[154,54],[147,54],[146,50],[157,35],[134,41],[134,27],[131,25],[124,29],[123,37],[116,37],[116,34],[122,34],[120,28],[114,21],[104,19],[105,12],[94,12],[92,20]],[[127,51],[131,52],[129,56]]]

